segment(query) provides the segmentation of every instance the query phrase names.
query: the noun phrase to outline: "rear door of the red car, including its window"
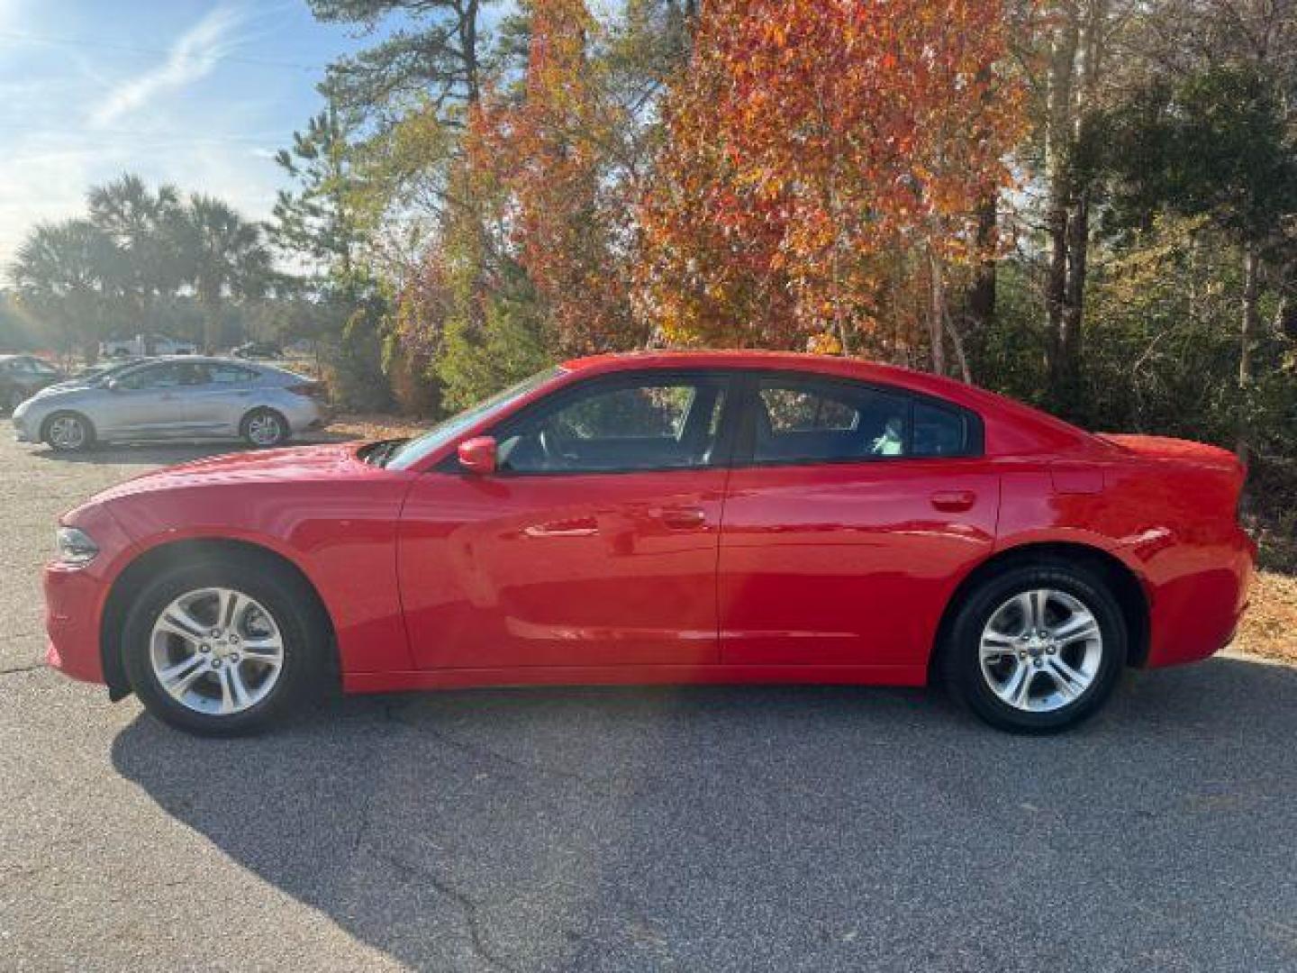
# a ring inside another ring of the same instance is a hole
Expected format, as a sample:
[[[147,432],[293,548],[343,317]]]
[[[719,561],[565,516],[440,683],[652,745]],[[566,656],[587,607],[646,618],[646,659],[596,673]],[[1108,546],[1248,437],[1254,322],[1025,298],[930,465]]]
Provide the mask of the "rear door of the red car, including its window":
[[[995,541],[977,416],[839,379],[751,385],[720,545],[721,662],[922,667]]]

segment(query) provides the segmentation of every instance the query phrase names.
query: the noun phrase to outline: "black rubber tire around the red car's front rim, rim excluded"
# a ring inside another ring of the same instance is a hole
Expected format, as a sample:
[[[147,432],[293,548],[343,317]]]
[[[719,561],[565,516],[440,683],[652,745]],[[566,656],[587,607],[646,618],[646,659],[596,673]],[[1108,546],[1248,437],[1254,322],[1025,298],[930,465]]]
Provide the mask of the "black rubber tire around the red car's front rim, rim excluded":
[[[162,688],[150,659],[153,625],[158,616],[188,592],[204,588],[235,589],[265,606],[283,642],[283,666],[267,695],[249,708],[227,715],[198,712]],[[144,707],[156,717],[202,737],[258,733],[293,711],[327,675],[327,627],[319,618],[310,586],[292,571],[257,557],[237,553],[214,555],[149,580],[126,614],[122,662],[127,679]]]

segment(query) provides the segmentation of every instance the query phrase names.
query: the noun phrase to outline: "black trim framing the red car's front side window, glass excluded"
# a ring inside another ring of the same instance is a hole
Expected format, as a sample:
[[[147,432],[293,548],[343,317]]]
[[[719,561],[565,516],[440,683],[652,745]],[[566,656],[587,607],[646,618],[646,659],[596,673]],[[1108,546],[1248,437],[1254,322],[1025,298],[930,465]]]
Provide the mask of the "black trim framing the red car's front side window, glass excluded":
[[[532,476],[633,476],[636,474],[690,474],[708,470],[725,470],[732,466],[734,444],[737,440],[737,427],[742,418],[739,402],[742,400],[743,372],[738,368],[638,368],[636,371],[615,371],[602,375],[591,375],[588,379],[576,381],[541,397],[534,402],[523,406],[514,415],[506,416],[497,424],[477,432],[477,436],[493,436],[497,441],[506,438],[511,429],[523,423],[532,422],[537,416],[545,416],[564,407],[569,401],[586,394],[591,387],[606,387],[610,390],[629,388],[648,381],[669,384],[677,381],[698,381],[707,379],[719,381],[722,387],[725,400],[721,406],[720,427],[716,431],[716,448],[712,458],[698,466],[637,466],[630,470],[506,470],[498,468],[495,476],[503,479],[523,479]],[[463,441],[463,440],[460,440]],[[459,466],[458,448],[433,467],[437,472],[458,474],[470,476]]]

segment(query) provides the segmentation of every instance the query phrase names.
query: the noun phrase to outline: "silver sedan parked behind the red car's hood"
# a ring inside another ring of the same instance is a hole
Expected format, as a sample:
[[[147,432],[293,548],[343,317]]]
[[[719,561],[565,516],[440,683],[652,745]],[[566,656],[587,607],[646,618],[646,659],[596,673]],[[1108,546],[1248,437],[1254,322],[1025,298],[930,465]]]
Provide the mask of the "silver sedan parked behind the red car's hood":
[[[224,358],[156,358],[40,392],[13,411],[21,442],[75,451],[105,440],[240,437],[279,446],[324,424],[319,383]]]

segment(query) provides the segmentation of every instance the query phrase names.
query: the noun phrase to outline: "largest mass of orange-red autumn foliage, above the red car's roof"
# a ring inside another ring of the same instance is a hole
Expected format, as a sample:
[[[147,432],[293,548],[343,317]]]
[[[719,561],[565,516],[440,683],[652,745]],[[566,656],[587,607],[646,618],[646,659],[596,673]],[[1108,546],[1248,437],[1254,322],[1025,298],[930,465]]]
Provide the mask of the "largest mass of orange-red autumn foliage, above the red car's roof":
[[[1006,60],[1000,0],[704,3],[641,200],[641,313],[686,345],[868,342],[899,253],[977,256],[1025,131]]]

